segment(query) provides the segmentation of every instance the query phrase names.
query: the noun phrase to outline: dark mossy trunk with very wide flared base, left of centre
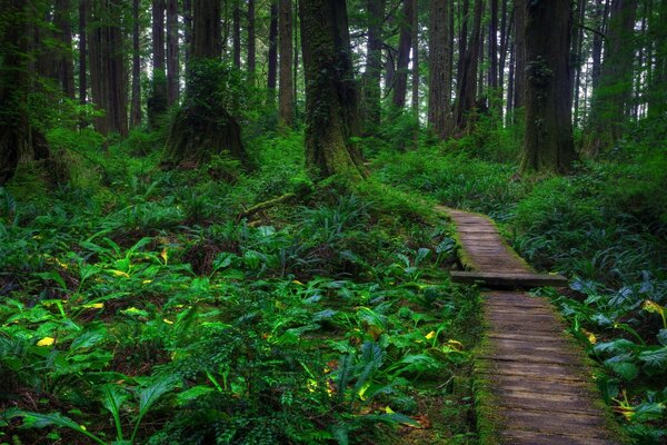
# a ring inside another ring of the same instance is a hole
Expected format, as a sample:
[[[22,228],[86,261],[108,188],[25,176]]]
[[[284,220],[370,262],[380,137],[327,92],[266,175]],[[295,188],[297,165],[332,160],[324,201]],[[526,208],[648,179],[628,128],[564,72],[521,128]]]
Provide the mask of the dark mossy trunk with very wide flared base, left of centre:
[[[221,105],[221,95],[226,93],[221,78],[225,71],[219,63],[221,49],[220,2],[193,0],[186,97],[169,129],[165,167],[192,168],[219,154],[247,161],[241,129]]]

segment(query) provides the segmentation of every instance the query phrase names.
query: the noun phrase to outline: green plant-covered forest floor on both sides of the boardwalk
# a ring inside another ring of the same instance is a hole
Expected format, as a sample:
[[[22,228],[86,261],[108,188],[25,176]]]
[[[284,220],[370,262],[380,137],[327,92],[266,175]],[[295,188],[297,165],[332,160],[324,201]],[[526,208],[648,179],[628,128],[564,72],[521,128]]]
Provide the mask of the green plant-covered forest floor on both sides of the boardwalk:
[[[251,174],[160,170],[151,138],[102,152],[81,135],[69,185],[32,165],[2,190],[0,443],[479,443],[482,305],[449,278],[436,204],[489,214],[571,279],[541,294],[600,362],[603,398],[640,443],[665,437],[665,233],[596,212],[607,170],[517,180],[456,147],[371,151],[352,192],[308,180],[299,132],[253,138]],[[614,263],[630,244],[646,255]]]

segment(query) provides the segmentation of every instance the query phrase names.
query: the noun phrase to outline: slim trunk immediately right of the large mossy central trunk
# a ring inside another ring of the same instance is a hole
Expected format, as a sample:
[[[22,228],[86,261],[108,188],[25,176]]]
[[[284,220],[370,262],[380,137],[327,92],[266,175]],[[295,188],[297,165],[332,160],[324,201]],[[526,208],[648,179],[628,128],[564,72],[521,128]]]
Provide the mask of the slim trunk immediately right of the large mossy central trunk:
[[[362,77],[361,118],[362,134],[374,135],[380,125],[380,81],[382,76],[382,21],[385,0],[366,0],[368,18],[368,46],[366,70]]]

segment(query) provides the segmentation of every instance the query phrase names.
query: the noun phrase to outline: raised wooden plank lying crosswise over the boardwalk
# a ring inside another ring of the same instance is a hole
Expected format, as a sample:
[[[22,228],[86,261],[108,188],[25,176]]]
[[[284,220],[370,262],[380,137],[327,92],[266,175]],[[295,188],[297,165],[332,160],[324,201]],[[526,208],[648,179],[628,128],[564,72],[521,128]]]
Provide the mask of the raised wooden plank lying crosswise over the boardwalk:
[[[481,284],[482,286],[504,286],[529,288],[540,286],[566,287],[567,278],[560,275],[544,274],[508,274],[496,271],[459,271],[451,270],[451,280],[462,284]]]

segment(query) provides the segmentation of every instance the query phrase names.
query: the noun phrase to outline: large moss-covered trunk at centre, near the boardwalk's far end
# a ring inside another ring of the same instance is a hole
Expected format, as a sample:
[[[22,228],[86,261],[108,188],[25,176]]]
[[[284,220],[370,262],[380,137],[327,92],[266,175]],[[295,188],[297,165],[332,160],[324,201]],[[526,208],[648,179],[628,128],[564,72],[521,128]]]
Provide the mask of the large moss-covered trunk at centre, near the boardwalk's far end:
[[[345,0],[301,0],[306,76],[306,165],[316,177],[365,176],[358,135],[357,86]]]

